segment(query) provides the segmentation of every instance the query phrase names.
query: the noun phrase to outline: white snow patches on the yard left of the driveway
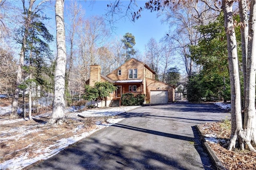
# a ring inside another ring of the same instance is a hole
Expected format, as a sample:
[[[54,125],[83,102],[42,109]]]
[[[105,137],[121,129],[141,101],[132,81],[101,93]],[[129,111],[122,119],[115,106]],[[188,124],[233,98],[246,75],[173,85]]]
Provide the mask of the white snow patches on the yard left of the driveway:
[[[118,115],[120,113],[124,113],[126,111],[130,111],[132,109],[135,109],[137,107],[140,106],[124,106],[124,107],[106,107],[106,108],[99,108],[99,109],[90,109],[87,111],[83,111],[79,114],[82,114],[84,117],[108,117],[108,116],[113,116],[113,115]],[[9,107],[0,107],[0,114],[7,114],[10,112],[10,106]],[[51,113],[46,113],[43,115],[36,115],[36,116],[32,116],[33,118],[39,118],[42,116],[46,116],[46,115],[50,115]],[[67,108],[66,109],[66,115],[68,115],[69,118],[71,119],[76,119],[78,112],[75,109]],[[34,162],[38,161],[38,160],[42,160],[42,159],[48,159],[51,156],[54,156],[55,154],[58,154],[58,152],[60,152],[61,150],[65,149],[66,147],[68,147],[68,145],[71,145],[81,139],[83,139],[84,137],[88,137],[89,135],[93,134],[94,132],[104,128],[104,127],[108,127],[111,126],[114,123],[117,123],[118,121],[121,121],[124,118],[119,118],[119,119],[108,119],[108,123],[96,123],[96,128],[90,132],[86,132],[86,133],[82,133],[80,135],[74,135],[72,137],[69,138],[62,138],[59,141],[57,141],[54,145],[50,145],[48,147],[44,147],[38,150],[35,150],[34,152],[37,154],[37,156],[35,158],[28,158],[28,153],[24,153],[23,155],[7,160],[5,162],[3,162],[2,164],[0,164],[1,169],[22,169],[30,164],[33,164]],[[0,125],[4,125],[4,124],[9,124],[9,123],[15,123],[18,121],[26,121],[25,119],[16,119],[16,120],[7,120],[7,119],[0,119]],[[24,127],[26,128],[26,127]],[[73,129],[73,131],[78,131],[80,128],[82,127],[77,127],[76,129]],[[29,131],[29,129],[18,129],[18,128],[14,128],[13,131],[23,131],[26,132],[26,134],[28,133],[34,133],[36,130],[34,131]],[[7,131],[1,131],[1,136],[4,134],[6,135],[6,133],[8,133]],[[23,134],[19,134],[19,135],[15,135],[14,137],[10,137],[13,139],[18,139],[20,137],[24,137],[24,133]],[[2,141],[2,139],[1,139]],[[32,144],[32,145],[36,145],[36,144]],[[40,145],[40,144],[38,144]]]

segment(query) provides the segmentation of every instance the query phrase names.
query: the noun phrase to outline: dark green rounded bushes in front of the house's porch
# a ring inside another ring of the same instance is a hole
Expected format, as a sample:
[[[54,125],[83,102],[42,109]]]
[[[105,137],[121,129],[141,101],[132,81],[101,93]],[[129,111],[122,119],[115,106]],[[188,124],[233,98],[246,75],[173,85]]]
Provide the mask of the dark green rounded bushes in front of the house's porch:
[[[140,106],[144,103],[145,94],[138,94],[136,97],[132,93],[126,93],[122,95],[122,106]]]

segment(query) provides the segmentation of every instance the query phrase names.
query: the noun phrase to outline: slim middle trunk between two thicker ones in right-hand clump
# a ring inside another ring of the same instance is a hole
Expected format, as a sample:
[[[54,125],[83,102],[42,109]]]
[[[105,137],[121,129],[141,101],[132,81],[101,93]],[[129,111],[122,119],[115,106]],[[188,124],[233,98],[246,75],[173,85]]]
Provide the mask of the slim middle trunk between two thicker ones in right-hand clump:
[[[242,39],[242,68],[243,68],[243,76],[244,76],[244,101],[243,101],[243,109],[245,102],[245,88],[246,88],[246,63],[247,63],[247,47],[248,47],[248,6],[246,0],[239,1],[239,14],[240,14],[240,22],[242,25],[240,26],[241,39]]]

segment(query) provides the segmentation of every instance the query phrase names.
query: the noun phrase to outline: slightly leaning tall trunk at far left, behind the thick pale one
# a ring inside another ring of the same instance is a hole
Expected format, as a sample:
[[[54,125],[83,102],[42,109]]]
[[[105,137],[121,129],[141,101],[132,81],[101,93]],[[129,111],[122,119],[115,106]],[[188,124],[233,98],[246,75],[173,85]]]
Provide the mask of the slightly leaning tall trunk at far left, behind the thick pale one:
[[[22,39],[22,46],[21,46],[21,51],[20,51],[20,60],[19,60],[19,64],[18,64],[18,70],[17,70],[17,78],[16,78],[16,89],[14,92],[14,97],[12,100],[12,111],[10,113],[10,119],[17,119],[18,118],[18,114],[17,114],[17,110],[18,110],[18,99],[19,99],[19,93],[20,93],[20,84],[22,82],[22,66],[24,65],[24,55],[25,55],[25,49],[26,49],[26,42],[27,42],[27,37],[28,37],[28,29],[30,27],[30,22],[31,22],[31,14],[32,14],[32,7],[33,4],[36,0],[30,0],[30,4],[29,4],[29,8],[28,8],[28,12],[26,12],[26,8],[24,6],[24,1],[23,2],[23,7],[24,7],[24,12],[26,12],[27,14],[27,18],[25,20],[25,32],[23,35],[23,39]]]

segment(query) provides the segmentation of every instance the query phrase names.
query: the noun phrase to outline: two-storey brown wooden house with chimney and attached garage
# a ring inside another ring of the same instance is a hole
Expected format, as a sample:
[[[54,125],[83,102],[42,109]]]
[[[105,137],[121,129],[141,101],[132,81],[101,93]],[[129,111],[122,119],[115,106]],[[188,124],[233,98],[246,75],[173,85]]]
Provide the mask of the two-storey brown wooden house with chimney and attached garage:
[[[112,100],[120,100],[122,94],[146,94],[146,102],[151,104],[167,104],[174,101],[175,86],[154,80],[155,72],[146,64],[132,58],[122,66],[116,68],[107,76],[101,75],[100,65],[90,66],[90,78],[86,84],[94,86],[95,82],[108,81],[117,90],[110,94]]]

